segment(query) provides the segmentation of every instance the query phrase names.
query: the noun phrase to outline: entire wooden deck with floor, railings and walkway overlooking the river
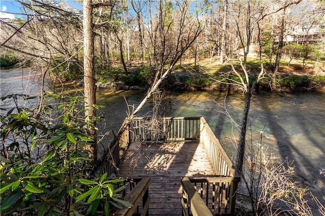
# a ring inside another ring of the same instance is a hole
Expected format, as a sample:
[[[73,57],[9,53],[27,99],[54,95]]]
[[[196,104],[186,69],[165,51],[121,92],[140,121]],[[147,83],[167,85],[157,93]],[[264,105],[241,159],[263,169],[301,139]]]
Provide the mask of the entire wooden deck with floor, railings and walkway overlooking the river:
[[[114,215],[233,214],[240,178],[205,119],[156,123],[134,118],[109,149],[102,172],[127,178],[122,196],[134,205]]]

